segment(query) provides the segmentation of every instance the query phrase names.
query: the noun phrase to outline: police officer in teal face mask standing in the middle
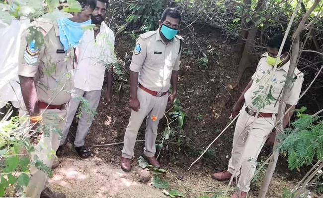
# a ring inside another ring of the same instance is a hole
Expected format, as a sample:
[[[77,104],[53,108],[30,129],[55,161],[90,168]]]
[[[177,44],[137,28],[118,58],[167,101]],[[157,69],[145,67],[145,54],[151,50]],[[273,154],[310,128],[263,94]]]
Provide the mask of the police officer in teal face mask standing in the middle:
[[[130,65],[129,105],[132,110],[121,157],[121,168],[126,172],[131,170],[130,159],[134,156],[138,130],[146,117],[143,156],[150,164],[160,167],[155,158],[155,141],[158,123],[163,117],[167,101],[171,103],[176,96],[183,40],[176,35],[180,20],[177,9],[166,8],[159,21],[160,28],[140,35],[134,49]],[[170,84],[172,93],[168,95]]]

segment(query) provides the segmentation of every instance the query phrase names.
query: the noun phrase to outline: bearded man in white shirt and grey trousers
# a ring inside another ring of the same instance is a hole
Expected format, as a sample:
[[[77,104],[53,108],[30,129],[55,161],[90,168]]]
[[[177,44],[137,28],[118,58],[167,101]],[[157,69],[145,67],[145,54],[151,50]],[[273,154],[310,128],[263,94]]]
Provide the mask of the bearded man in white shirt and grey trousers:
[[[97,108],[103,86],[104,72],[107,76],[106,104],[111,102],[114,33],[104,22],[108,5],[108,0],[97,1],[91,17],[92,24],[95,24],[95,27],[84,32],[77,49],[77,67],[74,76],[75,92],[73,99],[69,102],[67,122],[63,129],[63,139],[59,150],[63,150],[63,145],[81,101],[80,97],[84,97],[88,101],[86,108],[93,110]],[[82,158],[86,158],[89,153],[84,145],[84,140],[94,115],[84,109],[81,111],[74,146],[78,154]]]

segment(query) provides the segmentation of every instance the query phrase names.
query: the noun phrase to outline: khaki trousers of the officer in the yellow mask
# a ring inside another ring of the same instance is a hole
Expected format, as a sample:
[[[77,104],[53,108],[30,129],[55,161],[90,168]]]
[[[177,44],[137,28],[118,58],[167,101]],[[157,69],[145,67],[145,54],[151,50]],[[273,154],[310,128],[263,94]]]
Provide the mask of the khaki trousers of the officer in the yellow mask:
[[[250,182],[256,170],[256,162],[261,148],[275,125],[276,115],[271,118],[255,118],[241,109],[233,139],[233,149],[228,171],[239,176],[238,188],[243,192],[250,190]]]

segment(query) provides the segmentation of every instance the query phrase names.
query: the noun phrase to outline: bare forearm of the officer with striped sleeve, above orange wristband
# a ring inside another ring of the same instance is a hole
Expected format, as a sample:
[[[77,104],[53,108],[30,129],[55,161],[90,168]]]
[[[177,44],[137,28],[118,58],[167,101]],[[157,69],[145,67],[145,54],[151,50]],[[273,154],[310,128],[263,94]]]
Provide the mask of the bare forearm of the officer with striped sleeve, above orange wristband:
[[[34,78],[19,76],[23,100],[30,116],[40,114]]]

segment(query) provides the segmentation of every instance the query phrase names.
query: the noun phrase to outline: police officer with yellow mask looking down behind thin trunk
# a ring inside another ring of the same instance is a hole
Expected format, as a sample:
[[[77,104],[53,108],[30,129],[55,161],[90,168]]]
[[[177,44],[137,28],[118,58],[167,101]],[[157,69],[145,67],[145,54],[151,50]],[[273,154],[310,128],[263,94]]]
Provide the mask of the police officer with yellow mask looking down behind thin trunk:
[[[277,57],[282,41],[283,35],[276,35],[269,41],[268,52],[262,54],[256,72],[233,107],[233,117],[238,115],[240,109],[241,114],[235,128],[228,170],[212,175],[214,179],[220,181],[230,179],[233,174],[237,177],[240,176],[237,185],[239,191],[236,191],[231,198],[245,198],[247,196],[250,182],[256,170],[259,152],[275,127],[279,103],[286,102],[286,110],[291,108],[284,116],[283,126],[286,127],[301,93],[303,73],[296,68],[294,80],[287,93],[287,101],[281,101],[281,92],[290,64],[289,50],[291,47],[291,42],[287,39],[282,55]],[[279,58],[279,64],[274,70],[273,65],[276,58]],[[268,95],[266,95],[267,90],[269,90]],[[258,116],[255,117],[257,111],[259,111]]]

